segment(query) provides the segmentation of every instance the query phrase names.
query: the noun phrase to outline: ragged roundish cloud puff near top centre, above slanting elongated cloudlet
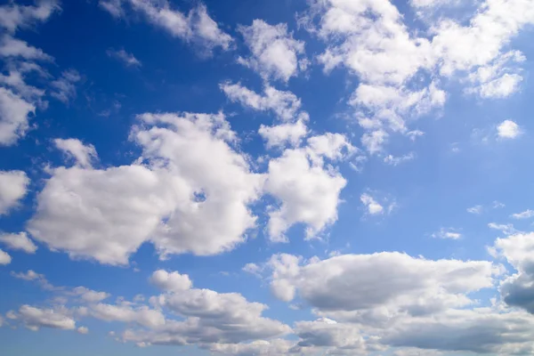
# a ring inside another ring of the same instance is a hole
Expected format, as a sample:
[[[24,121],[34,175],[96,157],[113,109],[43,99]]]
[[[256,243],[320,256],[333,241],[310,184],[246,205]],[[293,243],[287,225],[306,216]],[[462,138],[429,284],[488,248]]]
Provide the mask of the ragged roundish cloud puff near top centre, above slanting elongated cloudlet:
[[[287,82],[303,69],[304,43],[287,32],[287,25],[270,25],[254,20],[250,26],[239,26],[239,32],[251,52],[251,57],[239,57],[239,63],[254,69],[264,79]]]

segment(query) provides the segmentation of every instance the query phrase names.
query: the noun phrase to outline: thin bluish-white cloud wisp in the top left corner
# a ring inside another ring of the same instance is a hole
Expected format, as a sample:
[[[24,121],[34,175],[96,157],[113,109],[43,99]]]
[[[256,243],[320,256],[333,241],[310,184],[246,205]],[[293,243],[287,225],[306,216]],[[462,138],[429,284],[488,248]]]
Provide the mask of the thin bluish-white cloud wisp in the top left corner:
[[[0,26],[10,32],[19,28],[28,28],[36,22],[44,22],[61,10],[57,0],[41,0],[36,6],[15,3],[0,6]]]

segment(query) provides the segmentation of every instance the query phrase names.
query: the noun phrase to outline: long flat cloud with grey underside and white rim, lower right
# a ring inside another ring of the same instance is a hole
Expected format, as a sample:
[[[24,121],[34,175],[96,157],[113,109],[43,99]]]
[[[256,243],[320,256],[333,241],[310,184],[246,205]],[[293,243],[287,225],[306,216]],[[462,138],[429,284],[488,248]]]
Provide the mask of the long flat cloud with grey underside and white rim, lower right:
[[[366,324],[469,305],[473,300],[468,294],[492,287],[498,272],[489,262],[433,261],[385,252],[303,265],[299,261],[291,255],[273,256],[272,283],[283,282],[325,316]]]

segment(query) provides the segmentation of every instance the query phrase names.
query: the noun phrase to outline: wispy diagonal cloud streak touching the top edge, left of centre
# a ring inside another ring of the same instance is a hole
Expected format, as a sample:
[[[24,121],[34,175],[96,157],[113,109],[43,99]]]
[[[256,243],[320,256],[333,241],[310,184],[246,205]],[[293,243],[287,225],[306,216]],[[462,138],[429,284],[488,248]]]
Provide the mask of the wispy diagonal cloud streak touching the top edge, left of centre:
[[[167,0],[153,2],[150,0],[101,0],[102,9],[114,17],[125,15],[125,4],[134,12],[141,13],[152,25],[163,28],[171,36],[196,44],[211,53],[215,47],[230,49],[232,38],[207,13],[206,5],[198,4],[185,15],[173,10]]]

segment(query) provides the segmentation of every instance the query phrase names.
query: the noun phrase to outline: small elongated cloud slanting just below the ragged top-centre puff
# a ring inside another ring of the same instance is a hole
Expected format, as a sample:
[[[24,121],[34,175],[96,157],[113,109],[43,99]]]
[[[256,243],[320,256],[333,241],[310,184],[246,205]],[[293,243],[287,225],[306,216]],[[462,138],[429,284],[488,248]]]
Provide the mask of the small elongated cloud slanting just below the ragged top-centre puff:
[[[231,82],[221,85],[221,90],[231,101],[259,111],[272,111],[279,119],[291,121],[301,109],[301,101],[294,93],[279,91],[271,85],[265,85],[263,95],[255,93],[247,87]]]

